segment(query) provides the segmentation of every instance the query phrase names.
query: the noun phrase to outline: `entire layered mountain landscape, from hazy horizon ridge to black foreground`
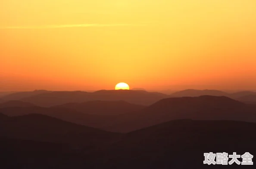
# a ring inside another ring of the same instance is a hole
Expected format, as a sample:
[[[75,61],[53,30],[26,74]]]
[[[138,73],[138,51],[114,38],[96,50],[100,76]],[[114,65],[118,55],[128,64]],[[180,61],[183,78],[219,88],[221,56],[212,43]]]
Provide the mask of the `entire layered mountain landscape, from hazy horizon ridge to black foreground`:
[[[0,168],[240,169],[203,164],[209,152],[256,154],[254,93],[224,94],[11,94],[0,103]]]

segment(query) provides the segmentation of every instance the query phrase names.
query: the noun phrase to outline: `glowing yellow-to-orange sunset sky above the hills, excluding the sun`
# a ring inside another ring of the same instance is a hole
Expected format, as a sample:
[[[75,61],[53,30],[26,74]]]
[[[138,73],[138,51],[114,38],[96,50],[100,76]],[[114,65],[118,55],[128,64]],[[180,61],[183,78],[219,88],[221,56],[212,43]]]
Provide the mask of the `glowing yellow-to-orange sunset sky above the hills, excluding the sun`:
[[[256,90],[255,0],[1,0],[0,91]]]

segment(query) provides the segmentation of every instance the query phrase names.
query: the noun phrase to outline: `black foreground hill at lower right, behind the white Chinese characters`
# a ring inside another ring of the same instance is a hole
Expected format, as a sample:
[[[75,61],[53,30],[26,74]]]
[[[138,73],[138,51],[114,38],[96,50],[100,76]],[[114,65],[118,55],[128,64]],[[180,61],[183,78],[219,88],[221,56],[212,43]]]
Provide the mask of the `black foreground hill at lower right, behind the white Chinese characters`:
[[[256,153],[256,135],[251,133],[255,131],[255,123],[238,121],[169,121],[127,133],[124,139],[103,149],[105,153],[101,158],[106,163],[95,156],[99,165],[96,168],[240,169],[236,164],[203,164],[203,154],[236,152],[243,155],[250,152],[253,155]],[[242,161],[241,158],[238,160]]]

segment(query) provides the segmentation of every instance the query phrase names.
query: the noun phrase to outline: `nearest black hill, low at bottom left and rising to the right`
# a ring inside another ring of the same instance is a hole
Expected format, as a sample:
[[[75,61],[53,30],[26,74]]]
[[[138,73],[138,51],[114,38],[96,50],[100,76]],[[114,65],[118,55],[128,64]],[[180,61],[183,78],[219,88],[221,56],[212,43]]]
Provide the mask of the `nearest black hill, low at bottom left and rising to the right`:
[[[34,118],[31,120],[37,121]],[[82,148],[75,151],[60,143],[0,138],[0,155],[3,160],[0,167],[5,169],[253,169],[254,166],[241,167],[237,164],[208,166],[203,164],[203,154],[236,152],[243,155],[245,152],[250,152],[254,155],[256,135],[252,133],[255,131],[255,123],[177,120],[124,134],[98,148]],[[48,132],[51,133],[50,130]],[[62,142],[66,142],[67,139],[69,137],[63,138]],[[242,161],[241,158],[238,160]]]

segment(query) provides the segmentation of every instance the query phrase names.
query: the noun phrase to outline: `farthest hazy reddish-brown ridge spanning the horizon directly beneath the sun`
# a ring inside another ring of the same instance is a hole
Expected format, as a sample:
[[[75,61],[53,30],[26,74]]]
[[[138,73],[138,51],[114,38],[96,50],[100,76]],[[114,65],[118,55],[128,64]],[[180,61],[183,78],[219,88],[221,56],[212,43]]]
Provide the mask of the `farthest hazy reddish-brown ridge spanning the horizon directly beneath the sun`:
[[[87,101],[126,101],[128,103],[149,106],[157,101],[170,97],[198,97],[198,96],[226,96],[244,102],[255,103],[256,92],[241,91],[226,93],[217,90],[188,89],[167,95],[159,92],[147,92],[144,90],[101,90],[94,92],[85,91],[45,91],[18,92],[0,98],[0,103],[9,100],[20,100],[32,103],[36,106],[59,106],[66,103],[84,103]]]

